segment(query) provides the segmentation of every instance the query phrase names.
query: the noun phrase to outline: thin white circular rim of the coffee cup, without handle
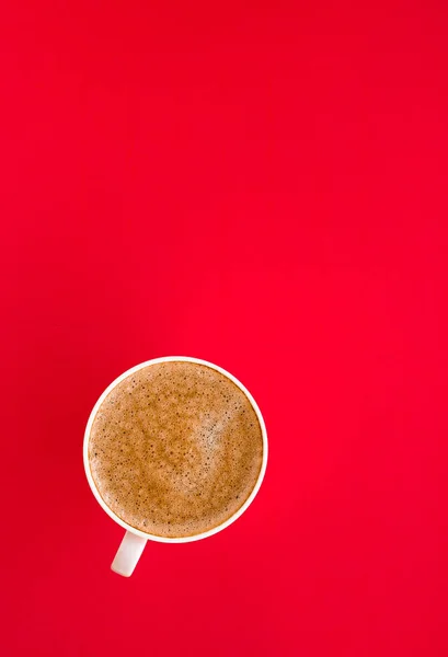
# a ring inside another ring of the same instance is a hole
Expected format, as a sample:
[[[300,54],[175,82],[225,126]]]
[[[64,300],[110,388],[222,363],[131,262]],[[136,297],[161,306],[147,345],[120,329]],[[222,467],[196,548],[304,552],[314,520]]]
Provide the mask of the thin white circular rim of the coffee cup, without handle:
[[[157,365],[159,362],[175,362],[175,361],[180,361],[180,362],[194,362],[197,365],[204,365],[206,367],[209,367],[218,372],[220,372],[221,374],[223,374],[225,377],[227,377],[228,379],[230,379],[244,394],[245,396],[249,399],[253,410],[255,411],[256,417],[259,419],[260,423],[260,427],[262,430],[262,439],[263,439],[263,458],[262,458],[262,466],[260,469],[260,473],[257,476],[257,480],[255,482],[254,487],[251,491],[251,494],[249,495],[248,499],[244,502],[244,504],[232,515],[230,516],[230,518],[228,518],[227,520],[225,520],[225,522],[221,522],[220,525],[218,525],[217,527],[214,527],[207,531],[197,533],[197,534],[193,534],[191,537],[158,537],[157,534],[150,534],[147,533],[145,531],[141,531],[140,529],[137,529],[135,527],[133,527],[131,525],[128,525],[127,522],[125,522],[125,520],[122,520],[122,518],[119,518],[119,516],[117,516],[104,502],[104,499],[101,497],[99,489],[96,488],[95,482],[93,480],[91,470],[90,470],[90,463],[89,463],[89,439],[90,439],[90,433],[92,429],[92,424],[93,420],[96,416],[96,413],[101,406],[101,404],[103,403],[103,401],[105,400],[105,397],[110,394],[110,392],[118,384],[120,383],[124,379],[127,379],[127,377],[129,377],[130,374],[134,374],[135,372],[139,371],[140,369],[143,369],[145,367],[149,367],[151,365]],[[199,541],[202,539],[207,539],[208,537],[211,537],[216,533],[218,533],[219,531],[222,531],[223,529],[226,529],[227,527],[229,527],[230,525],[232,525],[232,522],[234,522],[236,520],[238,520],[238,518],[240,516],[242,516],[244,514],[244,511],[248,509],[248,507],[252,504],[252,502],[254,500],[256,494],[260,491],[260,487],[262,485],[265,472],[266,472],[266,465],[267,465],[267,433],[266,433],[266,425],[264,423],[263,419],[263,415],[259,408],[257,403],[255,402],[254,397],[252,396],[252,394],[249,392],[249,390],[245,388],[245,385],[243,385],[241,383],[241,381],[239,381],[233,374],[231,374],[230,372],[228,372],[227,370],[225,370],[222,367],[219,367],[218,365],[215,365],[214,362],[210,362],[208,360],[203,360],[200,358],[193,358],[191,356],[162,356],[161,358],[151,358],[150,360],[145,360],[143,362],[140,362],[134,367],[131,367],[130,369],[126,370],[125,372],[123,372],[123,374],[119,374],[119,377],[117,377],[116,379],[114,379],[114,381],[112,381],[112,383],[110,383],[110,385],[107,385],[107,388],[104,390],[104,392],[100,395],[100,397],[97,399],[95,405],[93,406],[89,419],[88,419],[88,424],[85,426],[85,430],[84,430],[84,440],[83,440],[83,462],[84,462],[84,471],[85,471],[85,476],[88,479],[90,488],[96,499],[96,502],[100,504],[100,506],[103,508],[103,510],[107,514],[107,516],[110,516],[117,525],[119,525],[120,527],[123,527],[123,529],[125,529],[126,531],[130,531],[131,533],[146,539],[148,541],[157,541],[159,543],[189,543],[192,541]]]

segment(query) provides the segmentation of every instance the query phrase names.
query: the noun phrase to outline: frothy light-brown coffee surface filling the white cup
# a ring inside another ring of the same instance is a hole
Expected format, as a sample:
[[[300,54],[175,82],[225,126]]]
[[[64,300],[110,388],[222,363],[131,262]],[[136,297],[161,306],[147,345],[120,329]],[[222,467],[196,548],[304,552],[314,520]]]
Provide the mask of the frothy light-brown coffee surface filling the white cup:
[[[255,411],[207,366],[150,365],[124,379],[93,420],[90,469],[105,504],[159,537],[202,533],[230,518],[260,474]]]

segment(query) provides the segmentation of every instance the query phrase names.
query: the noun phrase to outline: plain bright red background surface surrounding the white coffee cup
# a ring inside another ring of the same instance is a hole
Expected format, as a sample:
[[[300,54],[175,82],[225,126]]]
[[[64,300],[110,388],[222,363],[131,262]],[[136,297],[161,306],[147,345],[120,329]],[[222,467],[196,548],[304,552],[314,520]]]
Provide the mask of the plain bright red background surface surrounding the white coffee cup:
[[[448,654],[448,10],[365,4],[2,8],[2,655]],[[127,580],[83,429],[170,354],[271,459]]]

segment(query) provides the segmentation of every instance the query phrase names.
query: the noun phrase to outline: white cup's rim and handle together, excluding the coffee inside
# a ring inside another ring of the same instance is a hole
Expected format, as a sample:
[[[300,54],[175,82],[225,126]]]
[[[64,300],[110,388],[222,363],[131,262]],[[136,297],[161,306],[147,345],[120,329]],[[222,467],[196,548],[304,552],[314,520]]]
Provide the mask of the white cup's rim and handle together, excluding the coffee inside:
[[[217,370],[218,372],[220,372],[221,374],[223,374],[225,377],[227,377],[228,379],[233,381],[233,383],[236,385],[238,385],[238,388],[240,388],[240,390],[243,391],[243,393],[245,394],[248,400],[251,402],[253,410],[256,413],[256,416],[259,418],[260,426],[262,429],[263,461],[262,461],[262,468],[260,470],[259,479],[256,480],[256,483],[255,483],[255,486],[254,486],[252,493],[250,494],[250,496],[248,497],[245,503],[238,509],[238,511],[236,511],[233,514],[233,516],[231,516],[228,520],[226,520],[221,525],[218,525],[217,527],[214,527],[212,529],[210,529],[208,531],[204,531],[203,533],[194,534],[192,537],[171,539],[171,538],[165,538],[165,537],[157,537],[154,534],[149,534],[143,531],[140,531],[139,529],[136,529],[135,527],[127,525],[127,522],[122,520],[122,518],[118,518],[118,516],[108,508],[108,506],[105,504],[105,502],[101,497],[101,495],[95,486],[95,483],[93,481],[92,473],[90,471],[89,438],[90,438],[90,431],[91,431],[95,415],[97,413],[97,410],[100,408],[101,404],[103,403],[104,399],[108,395],[108,393],[115,388],[115,385],[117,385],[117,383],[119,383],[120,381],[123,381],[124,379],[129,377],[130,374],[134,374],[135,372],[137,372],[139,369],[141,369],[143,367],[148,367],[150,365],[156,365],[157,362],[170,362],[170,361],[180,361],[180,360],[182,360],[184,362],[196,362],[198,365],[205,365],[207,367],[210,367],[211,369]],[[260,412],[260,408],[259,408],[255,400],[253,399],[253,396],[251,395],[249,390],[246,390],[244,388],[244,385],[242,383],[240,383],[240,381],[238,381],[238,379],[236,379],[232,374],[230,374],[229,372],[223,370],[221,367],[214,365],[212,362],[207,362],[207,360],[200,360],[198,358],[188,358],[185,356],[169,356],[165,358],[154,358],[153,360],[147,360],[146,362],[141,362],[140,365],[133,367],[131,369],[129,369],[126,372],[124,372],[123,374],[120,374],[117,379],[115,379],[115,381],[113,381],[111,383],[111,385],[108,385],[106,388],[106,390],[103,392],[103,394],[97,400],[96,404],[93,406],[92,413],[90,414],[89,422],[85,427],[85,434],[84,434],[83,454],[84,454],[85,474],[88,477],[89,485],[92,488],[93,495],[96,497],[96,500],[103,507],[105,512],[108,516],[111,516],[111,518],[113,520],[115,520],[115,522],[120,525],[126,530],[126,533],[123,538],[122,544],[118,548],[118,552],[116,553],[111,567],[115,573],[118,573],[119,575],[124,575],[125,577],[129,577],[129,575],[133,574],[138,560],[140,558],[140,555],[143,551],[143,548],[145,548],[147,541],[159,541],[160,543],[189,543],[191,541],[198,541],[199,539],[207,539],[208,537],[211,537],[212,534],[217,533],[218,531],[221,531],[226,527],[229,527],[229,525],[234,522],[237,520],[237,518],[239,518],[245,511],[245,509],[249,507],[249,505],[252,503],[255,495],[257,494],[260,486],[262,485],[264,473],[266,471],[267,434],[266,434],[266,427],[265,427],[265,424],[263,420],[263,416]]]

